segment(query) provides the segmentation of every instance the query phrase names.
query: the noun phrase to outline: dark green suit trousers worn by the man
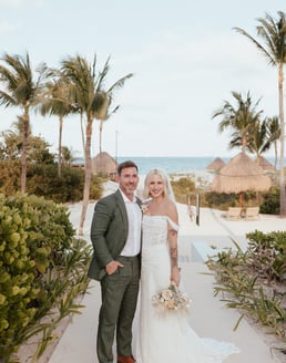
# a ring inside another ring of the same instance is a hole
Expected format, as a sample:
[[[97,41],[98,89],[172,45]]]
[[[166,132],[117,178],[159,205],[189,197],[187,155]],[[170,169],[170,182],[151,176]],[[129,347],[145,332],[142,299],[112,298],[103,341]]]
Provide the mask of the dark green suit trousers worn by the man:
[[[124,267],[100,281],[102,305],[96,340],[100,363],[113,362],[115,332],[118,355],[132,355],[132,323],[139,294],[140,257],[120,256],[116,260]]]

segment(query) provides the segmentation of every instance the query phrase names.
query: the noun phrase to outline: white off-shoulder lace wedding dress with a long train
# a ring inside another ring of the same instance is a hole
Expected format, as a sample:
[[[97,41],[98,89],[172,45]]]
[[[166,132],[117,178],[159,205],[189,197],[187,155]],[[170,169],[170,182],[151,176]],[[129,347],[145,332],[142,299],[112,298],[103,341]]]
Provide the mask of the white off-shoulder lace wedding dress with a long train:
[[[135,344],[136,363],[218,363],[238,350],[231,343],[196,335],[181,312],[159,314],[152,297],[170,284],[167,225],[165,216],[143,216],[141,302]]]

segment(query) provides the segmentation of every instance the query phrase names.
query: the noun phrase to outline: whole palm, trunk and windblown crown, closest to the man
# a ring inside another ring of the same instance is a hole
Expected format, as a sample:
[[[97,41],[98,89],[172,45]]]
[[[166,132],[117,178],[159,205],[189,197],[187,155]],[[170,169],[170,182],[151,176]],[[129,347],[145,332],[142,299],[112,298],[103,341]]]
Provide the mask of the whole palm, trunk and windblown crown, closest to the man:
[[[110,89],[105,90],[105,79],[110,70],[110,58],[108,58],[103,70],[96,72],[96,56],[93,63],[80,56],[69,56],[62,61],[61,71],[67,82],[69,82],[70,97],[81,117],[85,116],[85,143],[84,143],[84,190],[82,212],[79,226],[79,235],[83,235],[83,225],[85,220],[91,182],[91,138],[94,118],[104,120],[108,114],[108,107],[113,101],[113,92],[122,87],[127,79],[133,74],[130,73],[116,81]]]

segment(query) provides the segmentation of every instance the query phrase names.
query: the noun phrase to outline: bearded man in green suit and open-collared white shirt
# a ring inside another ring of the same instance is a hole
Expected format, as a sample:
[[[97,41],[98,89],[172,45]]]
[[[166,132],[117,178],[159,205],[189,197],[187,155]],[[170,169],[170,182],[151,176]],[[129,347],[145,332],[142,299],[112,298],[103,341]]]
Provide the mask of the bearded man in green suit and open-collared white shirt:
[[[119,189],[100,199],[91,225],[93,258],[89,277],[101,283],[96,352],[99,363],[112,363],[116,331],[118,363],[134,363],[132,323],[136,310],[140,251],[141,201],[134,195],[137,166],[126,160],[118,166]]]

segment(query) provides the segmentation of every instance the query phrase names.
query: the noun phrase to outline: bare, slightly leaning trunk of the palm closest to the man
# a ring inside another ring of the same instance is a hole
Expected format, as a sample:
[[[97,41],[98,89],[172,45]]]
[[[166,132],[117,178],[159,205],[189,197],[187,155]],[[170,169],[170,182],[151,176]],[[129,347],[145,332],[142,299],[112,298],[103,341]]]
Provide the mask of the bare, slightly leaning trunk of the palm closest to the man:
[[[80,227],[79,227],[79,236],[83,236],[83,225],[84,225],[89,199],[90,199],[91,136],[92,136],[92,120],[88,120],[86,142],[85,142],[85,147],[84,147],[84,189],[83,189],[83,201],[82,201],[81,220],[80,220]]]

